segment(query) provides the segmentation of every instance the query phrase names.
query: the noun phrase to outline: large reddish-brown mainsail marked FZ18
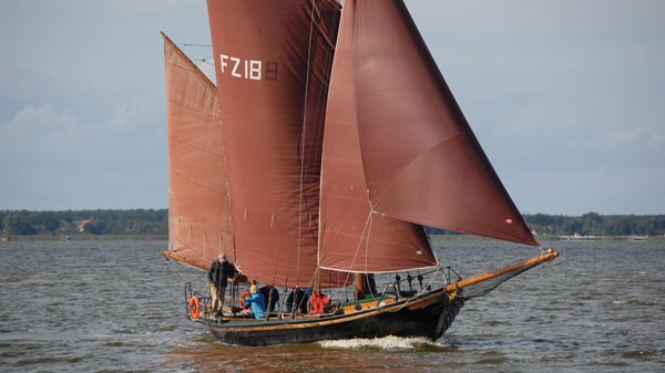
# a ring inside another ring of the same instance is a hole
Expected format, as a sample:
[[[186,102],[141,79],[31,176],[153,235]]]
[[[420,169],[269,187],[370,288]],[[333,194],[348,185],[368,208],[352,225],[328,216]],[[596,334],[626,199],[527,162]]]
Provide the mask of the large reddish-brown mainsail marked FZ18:
[[[339,9],[208,0],[235,263],[275,286],[318,273],[323,124]]]

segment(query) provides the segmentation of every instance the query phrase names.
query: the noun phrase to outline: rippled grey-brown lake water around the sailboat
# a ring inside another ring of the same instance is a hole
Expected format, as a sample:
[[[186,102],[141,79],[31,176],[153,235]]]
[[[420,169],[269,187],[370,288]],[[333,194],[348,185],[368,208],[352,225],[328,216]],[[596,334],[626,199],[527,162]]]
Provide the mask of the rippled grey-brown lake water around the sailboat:
[[[467,302],[438,343],[421,339],[228,346],[184,318],[165,241],[0,242],[0,371],[663,372],[665,242],[548,242],[561,256]],[[441,241],[470,277],[538,255]]]

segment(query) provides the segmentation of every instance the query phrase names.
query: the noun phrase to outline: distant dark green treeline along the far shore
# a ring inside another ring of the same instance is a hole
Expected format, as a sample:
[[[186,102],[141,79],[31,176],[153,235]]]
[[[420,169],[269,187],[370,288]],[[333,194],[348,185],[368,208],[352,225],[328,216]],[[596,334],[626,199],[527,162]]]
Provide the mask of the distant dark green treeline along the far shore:
[[[541,236],[663,236],[665,215],[525,215]],[[428,229],[432,234],[453,234]],[[0,210],[2,235],[167,235],[167,209]]]

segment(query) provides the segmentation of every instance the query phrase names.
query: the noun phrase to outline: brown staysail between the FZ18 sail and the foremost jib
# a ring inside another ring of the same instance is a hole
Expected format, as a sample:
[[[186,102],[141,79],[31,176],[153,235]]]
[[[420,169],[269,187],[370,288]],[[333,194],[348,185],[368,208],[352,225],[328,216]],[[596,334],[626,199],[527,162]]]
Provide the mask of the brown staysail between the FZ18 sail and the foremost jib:
[[[352,1],[340,24],[326,115],[319,266],[383,272],[437,265],[424,229],[372,211],[358,139]]]

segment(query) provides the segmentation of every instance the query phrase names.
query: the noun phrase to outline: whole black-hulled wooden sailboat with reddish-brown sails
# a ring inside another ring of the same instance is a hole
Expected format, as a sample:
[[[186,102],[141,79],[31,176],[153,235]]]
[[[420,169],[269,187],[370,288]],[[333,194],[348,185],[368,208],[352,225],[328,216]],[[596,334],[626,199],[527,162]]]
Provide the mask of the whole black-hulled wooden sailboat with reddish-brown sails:
[[[216,84],[164,35],[163,255],[207,270],[222,253],[242,276],[223,315],[187,283],[191,320],[241,345],[437,340],[464,301],[557,256],[503,187],[402,1],[207,8]],[[462,279],[439,262],[428,227],[541,250]],[[250,283],[277,290],[259,319],[241,307]],[[329,304],[289,304],[291,292]]]

